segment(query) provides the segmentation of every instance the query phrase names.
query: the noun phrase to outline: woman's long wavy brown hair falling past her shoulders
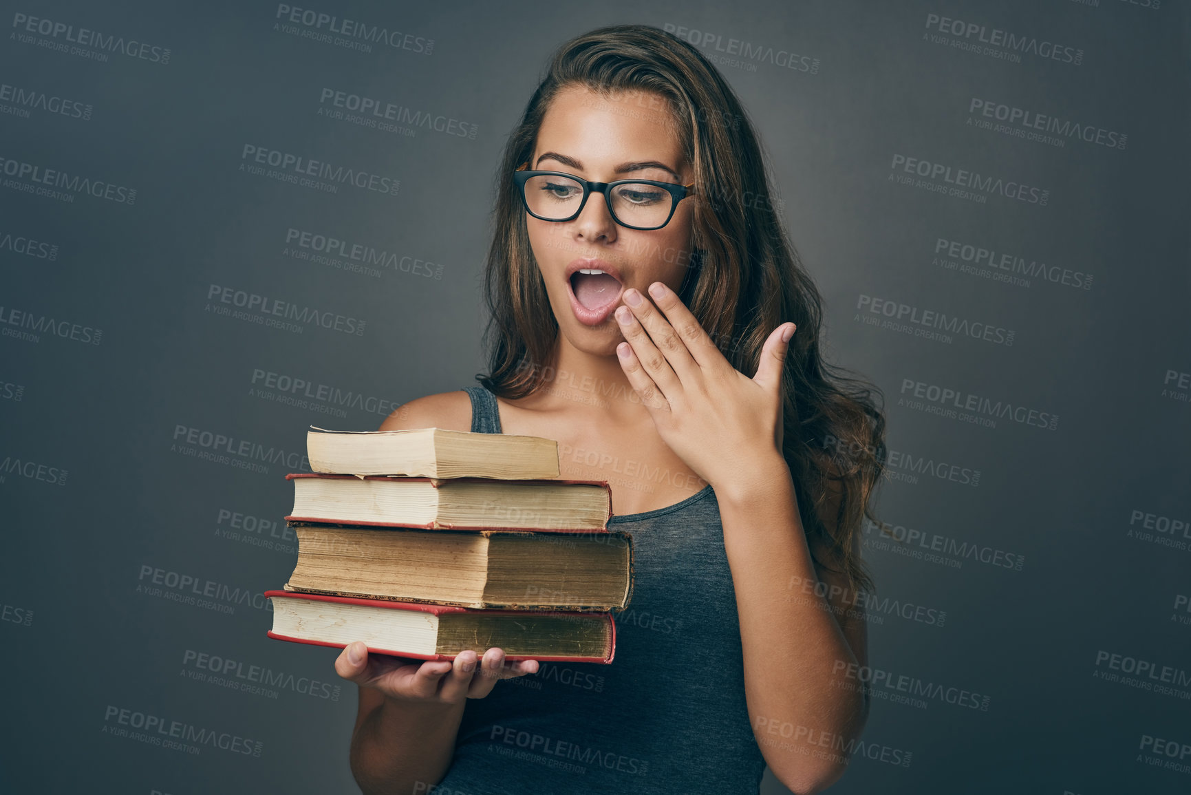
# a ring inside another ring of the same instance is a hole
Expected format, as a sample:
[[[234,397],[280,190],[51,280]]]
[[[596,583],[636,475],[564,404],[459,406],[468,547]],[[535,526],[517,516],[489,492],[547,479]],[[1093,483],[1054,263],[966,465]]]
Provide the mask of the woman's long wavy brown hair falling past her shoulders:
[[[746,374],[756,372],[774,328],[786,321],[798,325],[782,368],[781,452],[816,564],[843,572],[856,591],[873,591],[855,542],[865,517],[877,518],[869,498],[885,467],[884,396],[823,361],[822,297],[773,207],[760,141],[731,87],[682,39],[648,25],[612,25],[554,52],[497,172],[485,263],[490,374],[476,380],[517,399],[548,379],[559,324],[542,311],[549,299],[512,174],[532,155],[551,99],[576,86],[609,99],[644,91],[668,104],[696,181],[694,248],[679,296]],[[838,495],[834,526],[821,518],[831,491]],[[827,554],[816,555],[817,545]]]

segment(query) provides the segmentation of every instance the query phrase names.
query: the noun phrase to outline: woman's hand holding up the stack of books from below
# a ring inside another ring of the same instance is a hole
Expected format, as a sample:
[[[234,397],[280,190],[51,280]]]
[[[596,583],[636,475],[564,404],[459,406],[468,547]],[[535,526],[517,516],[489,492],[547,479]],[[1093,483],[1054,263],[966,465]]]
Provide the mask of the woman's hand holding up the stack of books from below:
[[[479,664],[478,664],[479,662]],[[389,654],[369,654],[363,641],[355,641],[335,660],[335,672],[361,688],[375,688],[386,696],[411,703],[461,703],[482,698],[498,679],[537,672],[537,660],[505,665],[505,652],[493,646],[478,660],[463,651],[451,660],[420,660]]]

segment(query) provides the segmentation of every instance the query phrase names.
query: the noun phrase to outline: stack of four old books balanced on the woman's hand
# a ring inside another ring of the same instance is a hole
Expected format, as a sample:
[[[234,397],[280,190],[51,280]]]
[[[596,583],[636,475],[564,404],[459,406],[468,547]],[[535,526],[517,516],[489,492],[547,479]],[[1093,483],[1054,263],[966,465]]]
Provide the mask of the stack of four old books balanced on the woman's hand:
[[[306,437],[286,522],[298,561],[270,638],[454,659],[611,663],[632,538],[605,480],[559,478],[557,443],[442,428]]]

